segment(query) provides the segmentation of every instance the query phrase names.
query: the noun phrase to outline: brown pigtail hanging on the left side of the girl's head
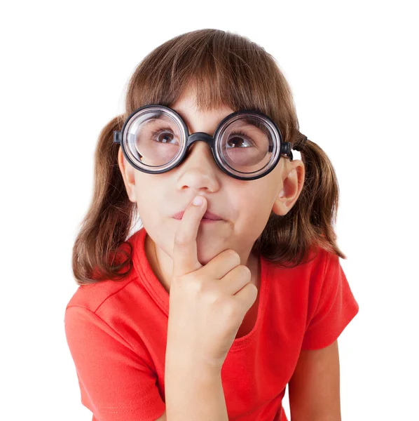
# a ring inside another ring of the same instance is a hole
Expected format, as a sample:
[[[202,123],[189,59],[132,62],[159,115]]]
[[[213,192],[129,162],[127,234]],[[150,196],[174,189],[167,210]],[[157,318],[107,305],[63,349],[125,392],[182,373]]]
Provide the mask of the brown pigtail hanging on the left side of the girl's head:
[[[132,246],[125,241],[137,203],[128,199],[118,167],[120,146],[114,143],[114,131],[121,130],[123,121],[124,116],[116,116],[99,134],[93,197],[73,247],[72,269],[78,285],[120,281],[132,267]]]

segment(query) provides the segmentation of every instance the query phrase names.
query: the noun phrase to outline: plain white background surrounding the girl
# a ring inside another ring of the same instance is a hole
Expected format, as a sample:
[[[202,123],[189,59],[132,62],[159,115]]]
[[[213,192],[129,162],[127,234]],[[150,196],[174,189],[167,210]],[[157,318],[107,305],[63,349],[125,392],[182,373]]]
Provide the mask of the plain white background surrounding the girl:
[[[202,28],[247,36],[276,58],[301,132],[337,173],[341,264],[360,307],[338,341],[342,419],[419,420],[414,3],[1,6],[1,420],[91,420],[64,309],[77,288],[71,250],[92,197],[95,145],[123,112],[142,58]],[[288,395],[284,407],[289,415]]]

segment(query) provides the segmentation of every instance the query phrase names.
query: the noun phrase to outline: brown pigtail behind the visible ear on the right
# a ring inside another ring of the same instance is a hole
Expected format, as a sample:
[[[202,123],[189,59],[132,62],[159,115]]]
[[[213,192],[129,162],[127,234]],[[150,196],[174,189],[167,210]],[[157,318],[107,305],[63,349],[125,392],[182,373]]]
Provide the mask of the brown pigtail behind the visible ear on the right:
[[[254,250],[266,260],[284,267],[306,262],[310,250],[324,248],[346,259],[336,243],[339,187],[336,173],[324,150],[297,132],[292,149],[300,149],[305,166],[301,194],[286,215],[271,212]],[[289,262],[291,265],[284,265]]]

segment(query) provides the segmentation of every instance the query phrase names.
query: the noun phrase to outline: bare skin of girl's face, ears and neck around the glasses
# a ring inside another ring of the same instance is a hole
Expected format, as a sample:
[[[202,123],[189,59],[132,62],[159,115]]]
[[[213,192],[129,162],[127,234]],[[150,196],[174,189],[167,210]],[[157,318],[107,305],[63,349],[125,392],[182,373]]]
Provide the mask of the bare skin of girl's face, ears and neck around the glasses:
[[[230,107],[198,112],[193,91],[186,91],[172,107],[184,119],[189,133],[214,135],[217,125],[235,110]],[[146,229],[146,256],[153,272],[167,292],[172,276],[174,234],[180,221],[174,213],[185,210],[197,194],[207,199],[207,210],[224,220],[203,224],[198,231],[198,260],[202,265],[232,248],[240,264],[249,267],[252,283],[259,290],[259,259],[252,246],[268,222],[270,211],[285,215],[303,188],[304,164],[299,159],[280,162],[258,180],[235,180],[217,166],[205,142],[195,142],[183,163],[162,174],[146,174],[132,167],[118,151],[118,166],[130,201],[137,203]],[[280,195],[281,193],[281,195]],[[257,203],[257,206],[254,206]]]

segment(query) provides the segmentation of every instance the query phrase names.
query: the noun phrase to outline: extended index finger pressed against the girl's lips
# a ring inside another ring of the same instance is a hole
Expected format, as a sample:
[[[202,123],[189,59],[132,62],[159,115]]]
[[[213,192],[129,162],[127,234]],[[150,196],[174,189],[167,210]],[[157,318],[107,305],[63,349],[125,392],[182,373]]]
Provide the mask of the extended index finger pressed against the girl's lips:
[[[183,276],[202,267],[198,261],[196,236],[202,216],[207,210],[207,201],[202,196],[197,197],[203,203],[198,206],[193,201],[189,203],[174,234],[172,276]]]

